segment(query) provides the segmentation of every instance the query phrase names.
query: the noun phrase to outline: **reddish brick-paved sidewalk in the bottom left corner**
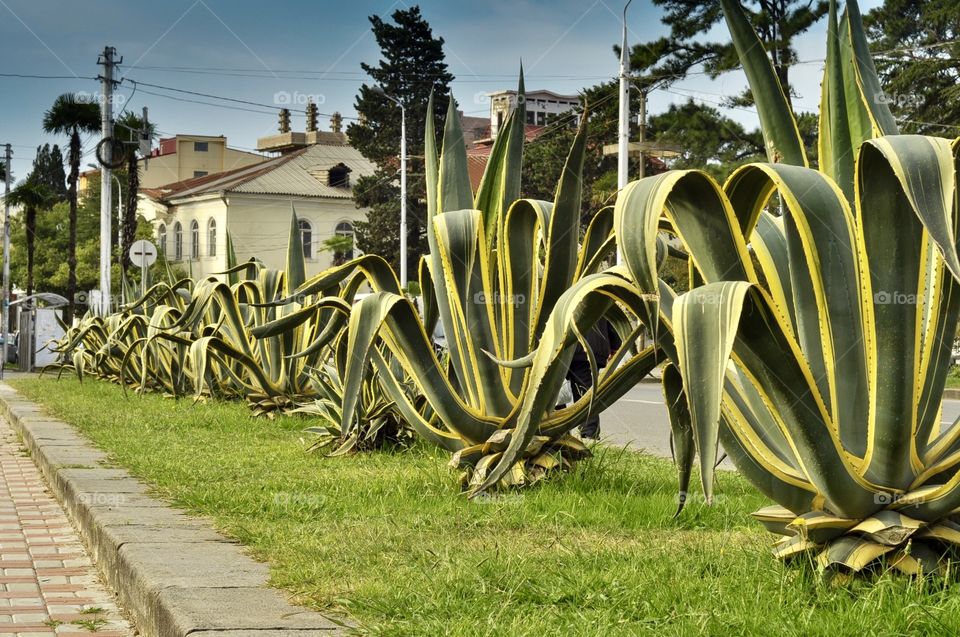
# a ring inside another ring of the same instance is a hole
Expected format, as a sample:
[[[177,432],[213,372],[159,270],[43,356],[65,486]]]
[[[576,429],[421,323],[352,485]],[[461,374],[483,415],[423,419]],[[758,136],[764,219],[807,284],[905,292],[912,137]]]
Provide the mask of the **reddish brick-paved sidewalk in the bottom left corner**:
[[[2,418],[0,569],[0,635],[133,634],[60,504]]]

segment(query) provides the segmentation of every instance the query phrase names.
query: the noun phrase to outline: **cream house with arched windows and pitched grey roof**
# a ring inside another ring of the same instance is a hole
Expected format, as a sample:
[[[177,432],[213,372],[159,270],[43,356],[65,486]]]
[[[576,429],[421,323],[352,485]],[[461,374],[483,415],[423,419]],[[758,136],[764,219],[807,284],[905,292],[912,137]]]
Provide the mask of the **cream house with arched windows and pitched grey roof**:
[[[342,138],[342,139],[341,139]],[[374,165],[345,143],[314,143],[262,163],[199,176],[140,192],[138,212],[156,231],[158,248],[195,277],[227,267],[226,233],[238,262],[256,257],[283,268],[290,211],[300,220],[307,275],[332,264],[323,242],[352,236],[366,209],[353,203],[352,185]]]

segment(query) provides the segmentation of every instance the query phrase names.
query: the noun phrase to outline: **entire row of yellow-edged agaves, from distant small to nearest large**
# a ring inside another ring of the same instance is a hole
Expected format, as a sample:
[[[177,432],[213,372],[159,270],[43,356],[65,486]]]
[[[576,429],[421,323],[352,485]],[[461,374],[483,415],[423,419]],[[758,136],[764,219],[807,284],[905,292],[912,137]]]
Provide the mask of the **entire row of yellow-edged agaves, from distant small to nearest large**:
[[[767,163],[723,185],[696,170],[633,182],[581,229],[588,117],[544,202],[519,198],[522,101],[475,196],[451,110],[441,154],[426,126],[419,304],[371,256],[309,280],[288,268],[189,293],[162,287],[139,304],[149,320],[103,319],[95,364],[174,393],[189,377],[195,391],[268,409],[296,402],[309,370],[332,362],[324,409],[341,435],[389,404],[453,452],[473,495],[582,457],[570,431],[663,365],[681,496],[699,464],[709,501],[722,444],[776,503],[755,516],[782,536],[779,557],[942,569],[960,544],[960,426],[942,423],[940,406],[960,313],[958,144],[898,134],[857,4],[838,15],[831,0],[811,167],[759,39],[736,0],[721,4]],[[684,294],[658,277],[668,243],[688,257]],[[621,264],[608,266],[617,250]],[[244,268],[256,272],[231,276]],[[361,285],[373,292],[354,303]],[[575,347],[602,318],[624,345],[589,392],[558,408]],[[641,330],[653,336],[643,349]],[[108,344],[121,338],[141,345]]]

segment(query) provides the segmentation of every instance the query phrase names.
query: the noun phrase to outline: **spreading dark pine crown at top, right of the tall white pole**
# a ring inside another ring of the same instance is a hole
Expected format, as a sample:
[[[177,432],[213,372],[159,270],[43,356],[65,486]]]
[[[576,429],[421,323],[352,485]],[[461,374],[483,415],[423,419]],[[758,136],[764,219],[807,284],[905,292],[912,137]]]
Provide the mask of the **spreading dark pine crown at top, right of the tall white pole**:
[[[653,4],[666,12],[661,21],[670,27],[670,35],[631,48],[630,67],[634,74],[647,76],[644,82],[678,81],[701,65],[714,78],[740,65],[733,42],[703,39],[723,23],[717,0],[653,0]],[[741,0],[741,5],[789,100],[790,67],[797,62],[793,40],[827,14],[826,0]],[[746,91],[731,102],[752,104],[753,99]]]

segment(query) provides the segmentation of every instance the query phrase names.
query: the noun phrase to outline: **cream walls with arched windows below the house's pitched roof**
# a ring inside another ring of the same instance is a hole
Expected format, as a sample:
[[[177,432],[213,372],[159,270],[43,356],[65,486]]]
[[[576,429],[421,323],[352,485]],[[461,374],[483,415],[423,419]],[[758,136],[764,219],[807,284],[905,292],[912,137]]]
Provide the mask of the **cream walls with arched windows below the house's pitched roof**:
[[[311,226],[312,258],[306,261],[307,276],[312,276],[333,264],[333,254],[322,252],[323,241],[334,236],[338,223],[351,224],[366,218],[366,210],[357,209],[351,199],[319,199],[313,197],[284,197],[230,193],[226,199],[210,196],[171,205],[165,215],[154,221],[155,234],[161,224],[167,229],[166,254],[174,265],[192,270],[195,277],[222,272],[227,267],[226,230],[233,239],[237,261],[257,257],[267,267],[283,269],[286,266],[287,242],[290,235],[291,203],[297,217]],[[217,227],[216,256],[209,256],[207,229],[210,219]],[[191,258],[190,226],[196,220],[199,227],[199,257]],[[174,253],[174,227],[180,222],[183,231],[183,259]]]

